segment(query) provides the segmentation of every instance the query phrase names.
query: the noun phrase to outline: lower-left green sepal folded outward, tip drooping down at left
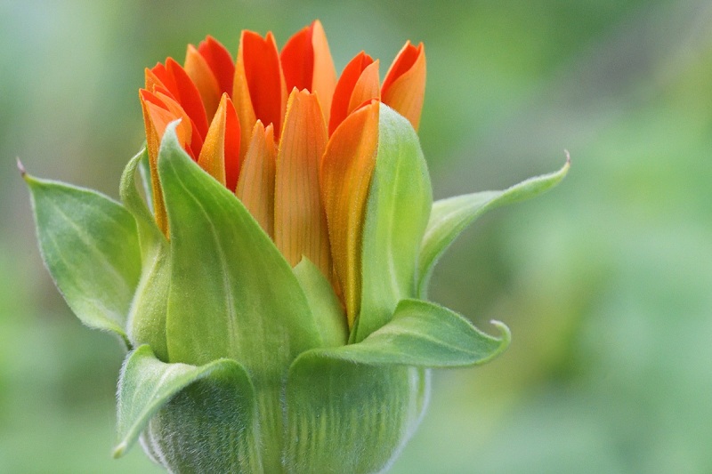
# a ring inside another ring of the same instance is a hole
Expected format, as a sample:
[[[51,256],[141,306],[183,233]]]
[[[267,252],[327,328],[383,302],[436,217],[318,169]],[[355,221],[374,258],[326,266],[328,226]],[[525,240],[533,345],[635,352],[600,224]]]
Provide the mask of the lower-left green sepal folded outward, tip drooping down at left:
[[[255,390],[234,360],[166,364],[141,346],[125,360],[117,400],[115,457],[143,432],[151,457],[172,472],[262,470]]]

